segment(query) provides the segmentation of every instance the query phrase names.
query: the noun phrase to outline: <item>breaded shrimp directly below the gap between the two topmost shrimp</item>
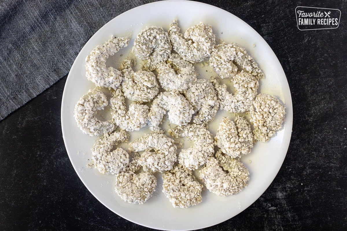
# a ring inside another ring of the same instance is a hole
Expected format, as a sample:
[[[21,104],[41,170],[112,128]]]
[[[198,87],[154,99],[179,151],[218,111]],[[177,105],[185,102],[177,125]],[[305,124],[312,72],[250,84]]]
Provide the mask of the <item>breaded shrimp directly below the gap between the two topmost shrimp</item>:
[[[196,81],[194,66],[184,61],[178,54],[171,54],[168,60],[158,65],[158,80],[166,91],[188,89]]]

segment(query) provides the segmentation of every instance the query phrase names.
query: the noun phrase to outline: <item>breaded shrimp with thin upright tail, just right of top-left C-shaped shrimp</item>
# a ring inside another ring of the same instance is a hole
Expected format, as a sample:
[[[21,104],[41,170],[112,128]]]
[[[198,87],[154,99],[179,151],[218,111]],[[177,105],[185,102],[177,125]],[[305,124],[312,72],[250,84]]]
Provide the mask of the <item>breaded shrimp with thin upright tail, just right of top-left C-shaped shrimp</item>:
[[[159,92],[155,74],[143,70],[134,72],[133,65],[135,65],[135,60],[131,59],[126,59],[120,65],[120,70],[124,75],[122,82],[124,96],[139,103],[149,102]]]

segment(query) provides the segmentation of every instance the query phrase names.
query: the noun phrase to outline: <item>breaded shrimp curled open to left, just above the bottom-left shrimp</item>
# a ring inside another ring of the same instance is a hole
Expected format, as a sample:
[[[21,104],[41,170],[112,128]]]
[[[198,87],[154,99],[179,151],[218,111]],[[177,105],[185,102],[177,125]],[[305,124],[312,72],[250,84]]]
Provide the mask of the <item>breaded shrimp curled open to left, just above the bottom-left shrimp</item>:
[[[177,159],[176,149],[174,140],[164,134],[153,133],[131,142],[129,151],[144,151],[138,162],[145,171],[150,169],[153,172],[163,172],[174,166]]]

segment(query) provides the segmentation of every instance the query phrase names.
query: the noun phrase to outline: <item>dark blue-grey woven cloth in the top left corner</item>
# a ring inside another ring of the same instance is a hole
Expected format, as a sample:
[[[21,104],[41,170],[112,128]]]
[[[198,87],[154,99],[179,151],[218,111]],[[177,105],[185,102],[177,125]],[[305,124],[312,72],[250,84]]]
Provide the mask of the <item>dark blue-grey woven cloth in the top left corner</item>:
[[[68,74],[100,27],[154,1],[0,1],[0,121]]]

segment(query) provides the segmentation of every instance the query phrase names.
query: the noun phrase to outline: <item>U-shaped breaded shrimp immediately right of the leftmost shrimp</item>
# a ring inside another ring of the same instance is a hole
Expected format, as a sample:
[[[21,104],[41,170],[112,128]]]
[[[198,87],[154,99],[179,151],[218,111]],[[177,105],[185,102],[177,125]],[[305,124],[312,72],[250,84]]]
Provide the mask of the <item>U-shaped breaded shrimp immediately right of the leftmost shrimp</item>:
[[[140,103],[131,103],[127,111],[125,97],[120,88],[112,91],[110,105],[112,118],[121,129],[132,132],[147,125],[149,107]]]

